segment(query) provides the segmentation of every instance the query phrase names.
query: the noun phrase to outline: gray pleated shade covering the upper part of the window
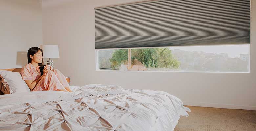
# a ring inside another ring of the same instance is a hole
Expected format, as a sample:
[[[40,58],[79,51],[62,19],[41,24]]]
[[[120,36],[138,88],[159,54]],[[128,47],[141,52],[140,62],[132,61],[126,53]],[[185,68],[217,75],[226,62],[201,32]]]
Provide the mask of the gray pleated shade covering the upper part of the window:
[[[157,0],[95,8],[95,49],[250,43],[250,0]]]

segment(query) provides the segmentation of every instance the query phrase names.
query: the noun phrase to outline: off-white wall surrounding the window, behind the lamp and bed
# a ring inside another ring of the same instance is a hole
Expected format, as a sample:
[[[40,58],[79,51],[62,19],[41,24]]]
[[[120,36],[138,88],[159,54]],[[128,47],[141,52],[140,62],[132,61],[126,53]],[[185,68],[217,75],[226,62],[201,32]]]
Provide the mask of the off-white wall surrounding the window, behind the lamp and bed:
[[[121,72],[95,70],[94,8],[137,0],[43,0],[44,44],[58,44],[55,67],[71,84],[114,84],[166,91],[184,104],[256,110],[256,0],[251,0],[250,73]]]

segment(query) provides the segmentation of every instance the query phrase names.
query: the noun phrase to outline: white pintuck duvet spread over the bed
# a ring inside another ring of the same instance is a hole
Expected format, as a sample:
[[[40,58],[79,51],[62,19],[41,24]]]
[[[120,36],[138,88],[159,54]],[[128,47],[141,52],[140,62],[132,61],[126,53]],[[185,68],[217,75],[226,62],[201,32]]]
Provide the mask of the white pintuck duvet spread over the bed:
[[[189,108],[163,91],[71,86],[0,95],[0,130],[172,131]]]

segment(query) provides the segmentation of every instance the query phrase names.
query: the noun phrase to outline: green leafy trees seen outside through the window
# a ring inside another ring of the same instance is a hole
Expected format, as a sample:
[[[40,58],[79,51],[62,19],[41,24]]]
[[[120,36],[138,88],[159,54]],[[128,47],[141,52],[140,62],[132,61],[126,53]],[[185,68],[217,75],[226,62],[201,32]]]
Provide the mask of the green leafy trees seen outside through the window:
[[[146,68],[178,68],[180,62],[173,58],[169,48],[142,48],[132,49],[132,64],[134,60],[140,61]],[[115,50],[110,58],[114,69],[121,64],[127,64],[128,49]]]

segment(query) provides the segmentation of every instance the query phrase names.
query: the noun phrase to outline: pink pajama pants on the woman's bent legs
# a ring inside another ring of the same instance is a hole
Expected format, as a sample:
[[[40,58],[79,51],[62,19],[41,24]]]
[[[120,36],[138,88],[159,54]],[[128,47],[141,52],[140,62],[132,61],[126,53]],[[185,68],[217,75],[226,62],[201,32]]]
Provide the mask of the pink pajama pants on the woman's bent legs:
[[[64,87],[69,87],[65,76],[59,70],[53,69],[53,71],[44,73],[33,91],[56,91],[65,89]]]

